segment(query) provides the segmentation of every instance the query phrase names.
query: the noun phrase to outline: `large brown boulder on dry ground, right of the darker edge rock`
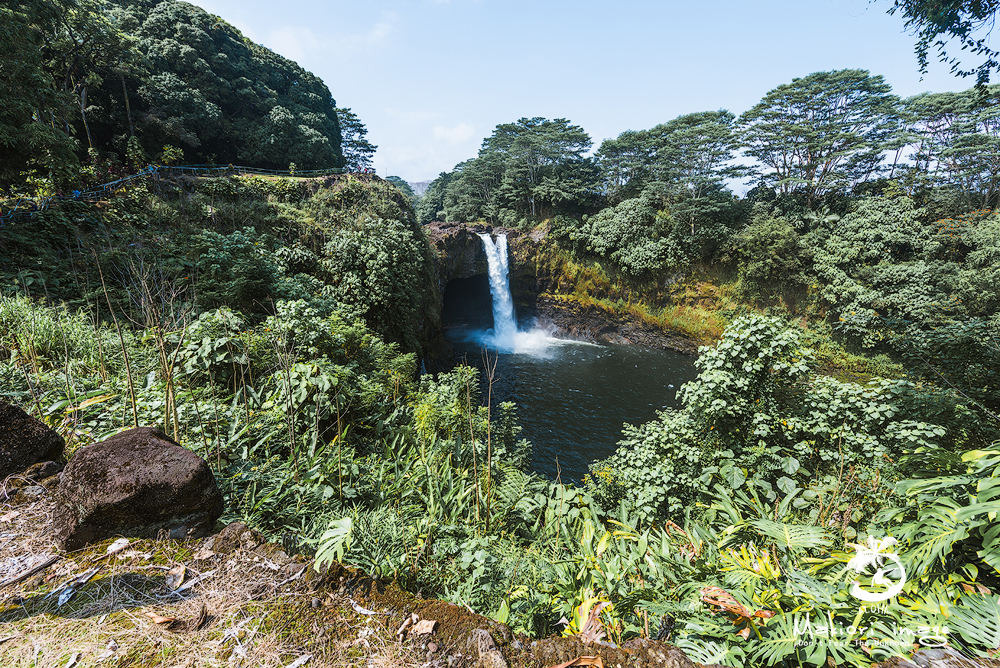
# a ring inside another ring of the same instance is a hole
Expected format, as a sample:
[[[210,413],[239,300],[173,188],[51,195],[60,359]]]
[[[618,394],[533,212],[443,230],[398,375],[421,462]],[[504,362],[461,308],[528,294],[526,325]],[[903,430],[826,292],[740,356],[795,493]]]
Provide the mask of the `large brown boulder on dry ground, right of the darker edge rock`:
[[[81,448],[55,494],[56,544],[76,550],[116,535],[205,535],[222,514],[222,494],[201,457],[140,427]]]

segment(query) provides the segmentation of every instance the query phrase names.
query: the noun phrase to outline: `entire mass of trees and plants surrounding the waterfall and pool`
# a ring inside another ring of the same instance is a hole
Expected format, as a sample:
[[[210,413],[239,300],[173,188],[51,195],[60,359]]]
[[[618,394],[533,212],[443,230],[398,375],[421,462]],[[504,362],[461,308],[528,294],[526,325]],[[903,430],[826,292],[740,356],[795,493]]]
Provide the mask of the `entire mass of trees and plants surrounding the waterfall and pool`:
[[[995,11],[956,28],[926,5],[896,3],[924,56]],[[10,194],[151,159],[371,166],[322,82],[196,7],[0,17]],[[524,633],[731,666],[996,653],[1000,88],[980,79],[901,100],[819,72],[593,155],[569,120],[522,118],[420,198],[354,175],[64,201],[0,230],[0,397],[71,451],[157,425],[210,462],[228,518]],[[544,232],[560,296],[711,339],[681,406],[581,485],[528,470],[516,406],[421,370],[441,218]]]

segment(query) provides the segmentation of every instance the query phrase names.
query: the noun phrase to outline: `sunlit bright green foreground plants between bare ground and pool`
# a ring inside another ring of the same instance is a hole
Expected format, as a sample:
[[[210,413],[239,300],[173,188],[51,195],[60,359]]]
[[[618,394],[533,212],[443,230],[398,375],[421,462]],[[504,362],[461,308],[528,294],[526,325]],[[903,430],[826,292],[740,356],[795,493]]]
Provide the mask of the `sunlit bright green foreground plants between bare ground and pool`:
[[[514,407],[479,406],[475,371],[414,380],[412,355],[341,310],[217,309],[119,346],[84,312],[3,296],[0,325],[2,396],[71,447],[135,414],[211,462],[230,517],[522,632],[584,633],[604,604],[588,637],[658,635],[730,666],[1000,644],[1000,453],[908,420],[913,386],[811,375],[774,318],[735,322],[682,409],[629,430],[584,489],[524,471]],[[883,589],[865,564],[887,554],[910,577],[861,607],[852,584]]]

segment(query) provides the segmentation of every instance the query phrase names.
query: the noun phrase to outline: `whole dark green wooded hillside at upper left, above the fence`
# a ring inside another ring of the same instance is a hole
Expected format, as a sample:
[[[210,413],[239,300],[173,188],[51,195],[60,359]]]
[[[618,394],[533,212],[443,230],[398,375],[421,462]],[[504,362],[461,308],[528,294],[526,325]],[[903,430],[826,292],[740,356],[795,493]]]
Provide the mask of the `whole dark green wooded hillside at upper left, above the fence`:
[[[32,170],[75,185],[84,156],[133,168],[181,155],[278,169],[343,164],[326,85],[199,7],[33,0],[0,11],[4,185]]]

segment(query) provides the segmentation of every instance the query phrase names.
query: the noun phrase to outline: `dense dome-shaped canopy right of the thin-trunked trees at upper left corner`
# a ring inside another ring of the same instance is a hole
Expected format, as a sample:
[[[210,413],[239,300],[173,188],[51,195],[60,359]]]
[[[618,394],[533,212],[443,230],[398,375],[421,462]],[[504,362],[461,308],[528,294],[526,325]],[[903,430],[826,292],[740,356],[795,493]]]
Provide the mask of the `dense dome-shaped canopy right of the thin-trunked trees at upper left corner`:
[[[284,168],[341,164],[336,102],[313,74],[186,2],[122,0],[152,74],[138,88],[147,148]]]

